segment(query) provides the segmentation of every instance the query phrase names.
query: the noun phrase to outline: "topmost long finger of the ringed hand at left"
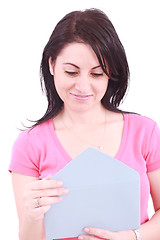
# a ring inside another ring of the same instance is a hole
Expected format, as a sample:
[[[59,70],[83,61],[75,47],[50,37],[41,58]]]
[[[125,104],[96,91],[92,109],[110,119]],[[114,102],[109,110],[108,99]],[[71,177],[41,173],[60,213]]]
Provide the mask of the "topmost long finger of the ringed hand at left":
[[[62,185],[63,185],[63,182],[59,180],[38,180],[38,181],[32,182],[31,190],[57,188],[57,187],[61,187]]]

